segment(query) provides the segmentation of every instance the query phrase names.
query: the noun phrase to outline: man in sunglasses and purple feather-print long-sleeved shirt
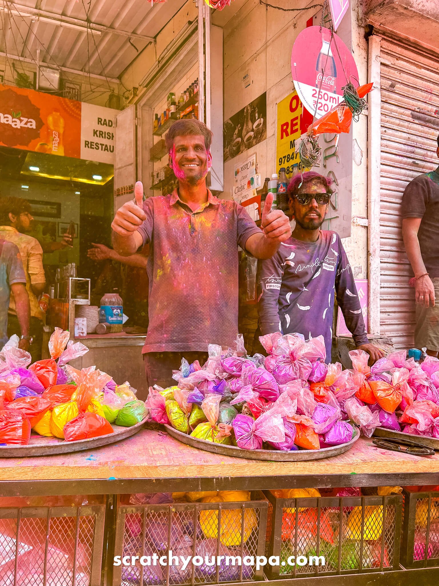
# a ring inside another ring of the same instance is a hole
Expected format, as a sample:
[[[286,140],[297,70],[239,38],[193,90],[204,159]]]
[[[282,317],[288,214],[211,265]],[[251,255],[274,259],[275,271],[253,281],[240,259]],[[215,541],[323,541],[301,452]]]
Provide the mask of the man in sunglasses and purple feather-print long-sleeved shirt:
[[[258,267],[260,332],[298,332],[306,339],[323,335],[330,362],[337,298],[356,347],[365,350],[373,363],[384,355],[366,335],[347,254],[337,233],[320,229],[328,211],[331,183],[314,171],[290,181],[289,207],[296,225],[273,257]]]

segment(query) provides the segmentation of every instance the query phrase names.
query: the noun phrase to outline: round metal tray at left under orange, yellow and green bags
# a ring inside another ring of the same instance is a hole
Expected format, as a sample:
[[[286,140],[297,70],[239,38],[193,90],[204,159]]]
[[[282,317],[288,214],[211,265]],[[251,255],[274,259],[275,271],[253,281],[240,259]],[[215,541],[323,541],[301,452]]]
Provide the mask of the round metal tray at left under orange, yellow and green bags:
[[[132,427],[111,424],[114,430],[112,434],[100,435],[97,438],[88,438],[87,440],[65,441],[59,438],[47,438],[32,432],[28,445],[0,446],[0,458],[52,456],[54,454],[69,454],[70,452],[80,452],[84,449],[99,448],[101,445],[114,444],[116,441],[129,438],[142,429],[145,421],[146,418]]]

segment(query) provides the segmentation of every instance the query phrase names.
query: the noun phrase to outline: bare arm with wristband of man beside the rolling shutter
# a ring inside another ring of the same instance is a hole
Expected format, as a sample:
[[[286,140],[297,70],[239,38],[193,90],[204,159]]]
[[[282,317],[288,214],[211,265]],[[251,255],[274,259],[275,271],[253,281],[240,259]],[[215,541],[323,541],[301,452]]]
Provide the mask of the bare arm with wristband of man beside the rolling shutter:
[[[415,277],[420,277],[420,275],[424,275],[427,272],[419,246],[418,230],[420,225],[421,218],[416,217],[404,218],[402,222],[404,247]],[[428,275],[416,279],[415,293],[417,303],[426,307],[434,306],[434,285]]]

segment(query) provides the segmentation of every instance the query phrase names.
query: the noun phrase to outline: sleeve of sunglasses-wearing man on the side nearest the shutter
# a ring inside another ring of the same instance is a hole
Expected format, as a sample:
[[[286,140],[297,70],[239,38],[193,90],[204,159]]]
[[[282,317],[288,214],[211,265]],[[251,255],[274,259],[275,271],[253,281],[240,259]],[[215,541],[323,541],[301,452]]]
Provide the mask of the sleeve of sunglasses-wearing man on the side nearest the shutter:
[[[337,272],[335,274],[335,295],[337,303],[341,308],[343,317],[345,318],[346,326],[354,338],[356,346],[368,344],[368,336],[366,334],[366,326],[361,311],[358,291],[352,275],[351,265],[349,259],[343,248],[341,240],[339,242],[339,258],[337,264]]]

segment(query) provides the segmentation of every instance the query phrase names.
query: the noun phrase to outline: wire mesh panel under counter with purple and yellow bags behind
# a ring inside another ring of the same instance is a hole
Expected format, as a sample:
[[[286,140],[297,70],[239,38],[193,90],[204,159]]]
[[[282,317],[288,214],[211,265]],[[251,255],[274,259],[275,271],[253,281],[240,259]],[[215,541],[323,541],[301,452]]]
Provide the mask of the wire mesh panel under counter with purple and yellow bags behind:
[[[243,560],[246,556],[263,555],[266,517],[261,516],[262,506],[267,505],[227,502],[121,506],[119,501],[115,553],[119,553],[121,534],[120,553],[138,556],[138,560],[133,567],[121,569],[121,582],[115,572],[113,584],[176,586],[255,580],[254,566],[245,565]],[[122,532],[119,526],[123,526]],[[171,552],[173,558],[168,565]],[[146,559],[141,564],[142,556]],[[162,556],[163,564],[159,560]],[[194,557],[200,563],[192,563]]]

